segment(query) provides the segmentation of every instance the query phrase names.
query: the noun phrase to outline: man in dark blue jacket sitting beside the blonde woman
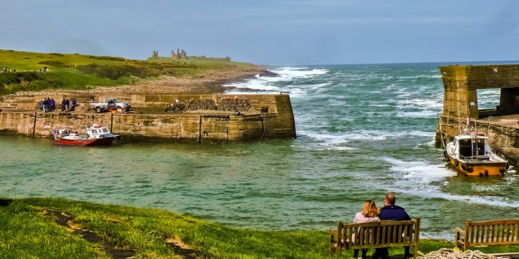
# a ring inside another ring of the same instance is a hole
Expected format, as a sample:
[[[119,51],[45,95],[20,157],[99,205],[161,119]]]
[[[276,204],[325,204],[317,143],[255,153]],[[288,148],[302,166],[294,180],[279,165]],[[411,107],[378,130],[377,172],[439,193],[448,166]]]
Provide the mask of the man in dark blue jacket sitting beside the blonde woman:
[[[385,195],[384,207],[380,211],[380,220],[394,220],[403,221],[411,220],[410,216],[405,209],[394,204],[397,198],[394,197],[393,193]],[[412,258],[412,254],[409,253],[409,247],[403,248],[405,252],[405,258]],[[389,258],[389,251],[387,248],[377,248],[372,258]]]

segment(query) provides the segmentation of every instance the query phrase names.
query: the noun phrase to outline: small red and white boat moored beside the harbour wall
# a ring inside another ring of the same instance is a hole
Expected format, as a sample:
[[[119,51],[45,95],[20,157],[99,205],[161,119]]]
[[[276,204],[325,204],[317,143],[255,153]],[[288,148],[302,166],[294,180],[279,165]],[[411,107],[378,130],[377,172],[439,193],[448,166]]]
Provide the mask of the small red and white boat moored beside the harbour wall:
[[[69,146],[110,146],[114,140],[120,140],[120,134],[112,134],[100,124],[86,125],[86,135],[75,131],[53,131],[54,144]]]

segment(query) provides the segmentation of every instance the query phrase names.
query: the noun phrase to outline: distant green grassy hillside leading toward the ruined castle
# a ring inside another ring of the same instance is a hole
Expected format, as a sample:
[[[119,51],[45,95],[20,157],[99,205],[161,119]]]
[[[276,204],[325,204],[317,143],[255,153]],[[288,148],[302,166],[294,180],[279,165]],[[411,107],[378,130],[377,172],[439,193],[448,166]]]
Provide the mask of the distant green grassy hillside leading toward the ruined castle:
[[[86,89],[89,86],[135,84],[159,75],[200,77],[208,70],[251,70],[254,65],[215,59],[173,61],[163,57],[147,61],[123,57],[0,50],[0,95],[21,90]],[[46,71],[42,72],[44,68]]]

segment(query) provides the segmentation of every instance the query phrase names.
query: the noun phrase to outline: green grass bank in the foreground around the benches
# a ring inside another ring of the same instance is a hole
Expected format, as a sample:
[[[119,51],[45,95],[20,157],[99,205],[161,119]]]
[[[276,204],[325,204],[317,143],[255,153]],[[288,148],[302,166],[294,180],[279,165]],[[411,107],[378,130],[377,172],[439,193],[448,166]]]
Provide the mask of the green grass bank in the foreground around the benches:
[[[136,258],[181,258],[167,247],[173,238],[201,258],[329,258],[327,231],[235,229],[161,209],[137,209],[55,198],[15,199],[0,207],[0,258],[109,258],[100,244],[87,242],[43,215],[55,209],[82,229],[97,233]],[[421,240],[424,253],[453,248],[442,240]],[[516,251],[513,246],[482,247],[484,253]],[[368,255],[373,251],[368,252]],[[390,249],[392,255],[403,249]],[[343,258],[352,258],[345,251]]]

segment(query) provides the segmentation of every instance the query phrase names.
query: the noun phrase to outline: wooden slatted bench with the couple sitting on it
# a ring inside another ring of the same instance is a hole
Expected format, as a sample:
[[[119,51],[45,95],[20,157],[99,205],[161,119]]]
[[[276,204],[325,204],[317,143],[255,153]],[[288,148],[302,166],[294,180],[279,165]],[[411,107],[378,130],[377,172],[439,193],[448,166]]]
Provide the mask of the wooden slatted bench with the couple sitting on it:
[[[330,231],[330,256],[340,256],[342,249],[414,247],[418,256],[420,218],[406,221],[338,222]],[[345,240],[345,242],[343,242]]]

